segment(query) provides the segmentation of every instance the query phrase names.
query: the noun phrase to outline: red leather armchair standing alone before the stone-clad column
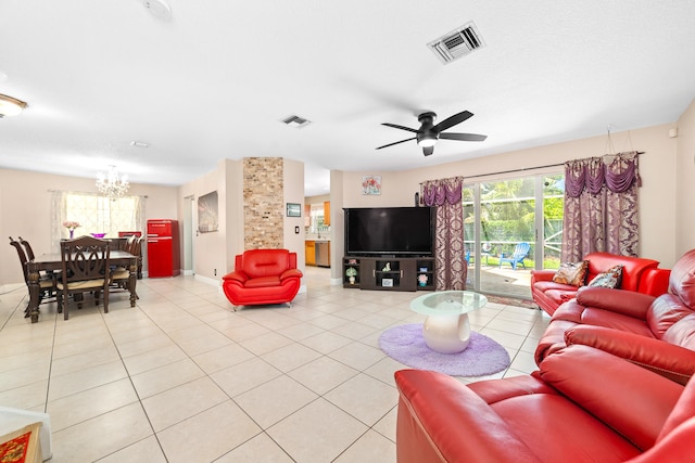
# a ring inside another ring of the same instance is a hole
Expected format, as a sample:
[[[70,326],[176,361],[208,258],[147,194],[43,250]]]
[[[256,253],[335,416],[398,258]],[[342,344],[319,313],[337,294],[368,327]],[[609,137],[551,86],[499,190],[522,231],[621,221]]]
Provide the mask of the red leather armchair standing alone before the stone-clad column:
[[[296,253],[250,249],[236,256],[235,270],[223,276],[222,287],[235,306],[285,304],[296,296],[301,279]]]

